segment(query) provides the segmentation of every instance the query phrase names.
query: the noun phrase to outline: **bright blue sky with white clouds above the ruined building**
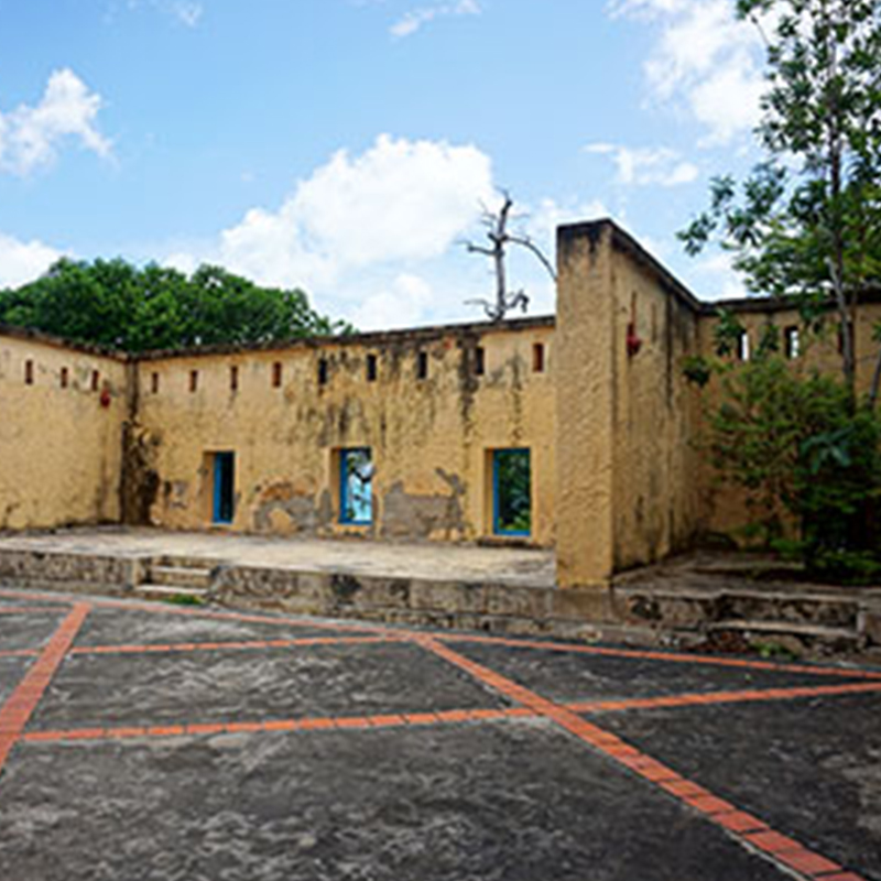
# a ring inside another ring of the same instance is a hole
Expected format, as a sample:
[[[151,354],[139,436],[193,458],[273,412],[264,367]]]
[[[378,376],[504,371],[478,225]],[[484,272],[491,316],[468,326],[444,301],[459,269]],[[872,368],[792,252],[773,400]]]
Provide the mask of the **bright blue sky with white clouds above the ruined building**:
[[[61,254],[303,286],[365,329],[479,317],[461,241],[614,217],[695,292],[676,229],[754,159],[732,0],[0,0],[0,285]],[[531,312],[553,287],[527,254]]]

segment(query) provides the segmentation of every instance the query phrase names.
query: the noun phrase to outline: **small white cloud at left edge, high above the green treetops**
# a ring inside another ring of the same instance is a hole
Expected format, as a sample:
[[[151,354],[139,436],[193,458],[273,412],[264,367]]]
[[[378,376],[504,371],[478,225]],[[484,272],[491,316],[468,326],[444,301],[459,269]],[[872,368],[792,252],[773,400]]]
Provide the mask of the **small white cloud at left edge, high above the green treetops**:
[[[51,164],[69,139],[99,156],[110,156],[110,141],[96,128],[101,106],[100,95],[73,70],[55,70],[36,106],[0,113],[0,170],[30,174]]]

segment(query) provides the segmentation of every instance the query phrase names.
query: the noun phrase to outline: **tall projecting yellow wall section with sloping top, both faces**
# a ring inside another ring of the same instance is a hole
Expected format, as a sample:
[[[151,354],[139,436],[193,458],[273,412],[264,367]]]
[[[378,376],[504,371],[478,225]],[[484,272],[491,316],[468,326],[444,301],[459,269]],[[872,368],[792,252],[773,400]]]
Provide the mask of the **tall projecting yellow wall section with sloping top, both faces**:
[[[562,227],[557,258],[557,576],[601,588],[699,531],[699,304],[611,221]]]

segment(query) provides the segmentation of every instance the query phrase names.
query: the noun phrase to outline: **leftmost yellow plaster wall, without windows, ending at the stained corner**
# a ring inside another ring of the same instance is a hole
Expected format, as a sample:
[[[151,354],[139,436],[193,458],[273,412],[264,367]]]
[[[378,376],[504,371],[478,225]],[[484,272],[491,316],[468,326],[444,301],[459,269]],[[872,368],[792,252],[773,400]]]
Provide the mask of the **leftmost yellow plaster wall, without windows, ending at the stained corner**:
[[[94,370],[108,407],[91,390]],[[0,530],[118,520],[126,370],[120,360],[0,331]]]

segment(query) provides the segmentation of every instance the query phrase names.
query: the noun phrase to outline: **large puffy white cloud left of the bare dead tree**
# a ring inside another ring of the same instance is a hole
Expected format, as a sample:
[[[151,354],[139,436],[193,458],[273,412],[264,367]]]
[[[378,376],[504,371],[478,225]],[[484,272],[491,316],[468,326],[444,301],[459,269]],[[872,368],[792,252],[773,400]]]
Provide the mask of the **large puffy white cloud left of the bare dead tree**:
[[[253,208],[220,235],[217,259],[272,284],[327,287],[346,272],[440,257],[492,196],[475,146],[380,135],[342,150],[278,210]]]

